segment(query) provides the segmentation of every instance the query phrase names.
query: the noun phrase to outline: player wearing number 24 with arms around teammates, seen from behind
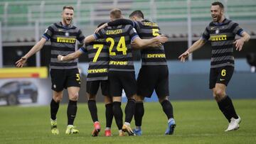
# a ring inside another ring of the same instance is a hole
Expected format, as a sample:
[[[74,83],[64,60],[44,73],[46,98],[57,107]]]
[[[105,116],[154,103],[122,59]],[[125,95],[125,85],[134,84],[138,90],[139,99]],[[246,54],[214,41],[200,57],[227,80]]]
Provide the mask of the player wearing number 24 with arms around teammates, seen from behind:
[[[110,19],[114,21],[122,18],[122,11],[119,9],[112,9],[110,11]],[[130,122],[134,115],[135,109],[135,95],[136,95],[136,79],[134,74],[134,64],[132,60],[131,41],[136,43],[140,48],[150,45],[155,42],[164,43],[168,38],[159,35],[149,40],[142,40],[137,35],[136,30],[131,25],[119,25],[106,27],[101,29],[95,35],[90,35],[85,38],[85,43],[89,43],[98,38],[105,38],[107,43],[110,43],[110,95],[113,100],[114,118],[119,129],[119,135],[134,135]],[[127,106],[125,107],[125,122],[122,125],[122,89],[127,96]]]

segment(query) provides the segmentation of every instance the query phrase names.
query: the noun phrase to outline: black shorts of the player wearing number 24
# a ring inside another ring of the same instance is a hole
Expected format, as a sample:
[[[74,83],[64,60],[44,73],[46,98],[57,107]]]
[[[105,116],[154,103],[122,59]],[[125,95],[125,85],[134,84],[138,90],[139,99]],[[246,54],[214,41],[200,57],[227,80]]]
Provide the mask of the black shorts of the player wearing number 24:
[[[134,72],[109,72],[110,96],[122,96],[122,89],[129,98],[136,94],[136,79]]]

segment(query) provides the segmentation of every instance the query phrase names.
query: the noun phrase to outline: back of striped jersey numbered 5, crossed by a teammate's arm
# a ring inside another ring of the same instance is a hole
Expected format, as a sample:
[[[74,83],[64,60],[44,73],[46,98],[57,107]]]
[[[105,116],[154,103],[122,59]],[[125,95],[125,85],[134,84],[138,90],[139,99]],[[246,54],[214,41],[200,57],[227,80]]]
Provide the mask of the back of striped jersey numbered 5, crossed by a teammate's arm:
[[[143,20],[135,21],[135,28],[140,38],[150,39],[157,35],[161,35],[161,31],[157,23]],[[164,46],[159,48],[145,48],[142,52],[142,65],[167,65]]]

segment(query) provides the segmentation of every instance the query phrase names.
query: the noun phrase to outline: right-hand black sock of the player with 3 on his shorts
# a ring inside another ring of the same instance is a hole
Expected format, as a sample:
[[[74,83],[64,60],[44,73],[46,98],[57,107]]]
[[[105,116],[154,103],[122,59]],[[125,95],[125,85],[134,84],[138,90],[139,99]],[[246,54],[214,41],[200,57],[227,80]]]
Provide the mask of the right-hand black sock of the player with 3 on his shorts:
[[[77,110],[78,110],[77,101],[69,100],[68,111],[67,111],[68,125],[74,124],[75,115],[76,115]]]

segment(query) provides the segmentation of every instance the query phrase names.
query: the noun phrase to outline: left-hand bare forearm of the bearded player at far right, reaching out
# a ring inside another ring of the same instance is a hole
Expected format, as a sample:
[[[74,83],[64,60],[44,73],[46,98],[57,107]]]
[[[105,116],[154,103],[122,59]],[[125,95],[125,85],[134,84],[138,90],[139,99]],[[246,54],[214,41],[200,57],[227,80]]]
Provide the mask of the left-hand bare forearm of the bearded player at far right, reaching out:
[[[191,48],[188,48],[188,50],[186,50],[186,52],[183,52],[183,54],[181,54],[178,58],[181,59],[181,62],[185,62],[186,57],[188,57],[188,55],[190,53],[192,53],[195,50],[198,50],[199,48],[201,48],[204,44],[206,43],[206,40],[203,40],[202,38],[200,38],[199,40],[197,40],[195,43],[193,43],[193,45],[191,45]]]

